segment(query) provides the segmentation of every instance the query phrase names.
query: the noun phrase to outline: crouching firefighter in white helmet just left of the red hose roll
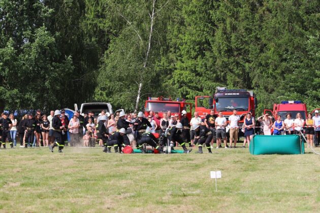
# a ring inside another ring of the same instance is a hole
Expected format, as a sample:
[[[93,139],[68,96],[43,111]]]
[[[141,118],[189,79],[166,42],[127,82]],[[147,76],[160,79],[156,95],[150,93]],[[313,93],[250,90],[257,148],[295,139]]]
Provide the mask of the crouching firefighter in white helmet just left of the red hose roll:
[[[107,152],[111,152],[111,148],[114,147],[114,151],[116,153],[121,153],[121,149],[124,146],[130,146],[130,140],[125,134],[125,129],[121,128],[117,132],[113,132],[109,135],[109,141],[108,141],[108,150]],[[118,151],[119,149],[119,151]],[[104,151],[105,152],[105,151]]]

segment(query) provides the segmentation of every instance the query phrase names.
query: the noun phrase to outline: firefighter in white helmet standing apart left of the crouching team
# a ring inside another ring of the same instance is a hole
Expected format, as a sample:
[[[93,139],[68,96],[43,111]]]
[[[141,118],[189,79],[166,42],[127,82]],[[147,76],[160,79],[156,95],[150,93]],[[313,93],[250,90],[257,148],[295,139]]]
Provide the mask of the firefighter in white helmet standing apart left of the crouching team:
[[[59,152],[62,152],[63,147],[65,147],[65,141],[62,140],[62,130],[66,128],[63,126],[60,120],[60,111],[54,111],[54,117],[52,118],[52,128],[53,128],[53,136],[55,138],[55,142],[52,146],[49,147],[50,151],[53,152],[53,148],[59,147]]]

